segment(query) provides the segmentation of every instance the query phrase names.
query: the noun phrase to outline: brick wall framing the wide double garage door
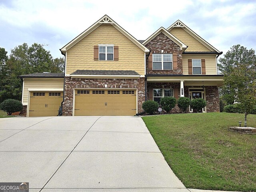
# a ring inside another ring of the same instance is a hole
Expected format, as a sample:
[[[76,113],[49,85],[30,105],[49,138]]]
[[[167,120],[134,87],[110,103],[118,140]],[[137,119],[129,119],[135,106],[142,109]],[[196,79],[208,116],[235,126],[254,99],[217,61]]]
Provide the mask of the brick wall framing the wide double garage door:
[[[140,79],[81,79],[65,77],[65,92],[62,115],[72,116],[74,88],[138,88],[138,113],[145,101],[145,78]]]

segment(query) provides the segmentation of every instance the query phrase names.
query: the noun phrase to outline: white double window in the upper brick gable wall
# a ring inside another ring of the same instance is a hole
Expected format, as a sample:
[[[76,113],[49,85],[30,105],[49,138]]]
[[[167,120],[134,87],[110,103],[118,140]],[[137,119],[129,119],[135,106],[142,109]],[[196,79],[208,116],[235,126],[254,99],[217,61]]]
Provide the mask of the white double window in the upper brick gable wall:
[[[172,70],[172,54],[152,54],[153,70]]]

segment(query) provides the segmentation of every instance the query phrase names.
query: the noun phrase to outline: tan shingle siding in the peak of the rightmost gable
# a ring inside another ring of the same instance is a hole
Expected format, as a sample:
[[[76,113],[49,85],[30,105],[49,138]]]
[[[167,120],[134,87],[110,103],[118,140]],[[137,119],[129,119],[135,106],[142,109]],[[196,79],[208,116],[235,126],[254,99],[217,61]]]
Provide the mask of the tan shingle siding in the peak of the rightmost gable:
[[[186,51],[210,51],[206,46],[180,27],[174,27],[170,33],[188,46]]]

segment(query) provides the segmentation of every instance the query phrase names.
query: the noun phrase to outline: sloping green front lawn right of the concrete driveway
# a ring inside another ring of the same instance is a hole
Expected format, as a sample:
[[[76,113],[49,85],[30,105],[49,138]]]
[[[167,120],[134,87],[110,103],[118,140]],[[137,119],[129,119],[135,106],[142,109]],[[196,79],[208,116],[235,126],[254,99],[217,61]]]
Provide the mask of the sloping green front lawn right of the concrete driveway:
[[[145,116],[165,160],[187,188],[256,192],[256,135],[229,130],[243,114]],[[256,127],[256,115],[248,115]]]

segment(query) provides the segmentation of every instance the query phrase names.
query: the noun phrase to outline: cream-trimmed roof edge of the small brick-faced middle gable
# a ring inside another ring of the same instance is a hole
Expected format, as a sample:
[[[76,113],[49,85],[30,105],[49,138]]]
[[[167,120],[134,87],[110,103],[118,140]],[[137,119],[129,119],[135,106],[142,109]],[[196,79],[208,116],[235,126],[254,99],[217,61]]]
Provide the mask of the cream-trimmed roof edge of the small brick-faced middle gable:
[[[168,38],[170,38],[173,42],[175,42],[178,46],[180,46],[180,50],[185,50],[188,46],[186,46],[184,43],[182,43],[180,40],[178,40],[174,35],[172,35],[170,32],[168,32],[165,28],[160,27],[156,32],[154,32],[149,38],[147,38],[142,44],[146,45],[148,42],[150,42],[152,39],[154,39],[158,34],[163,33]]]

